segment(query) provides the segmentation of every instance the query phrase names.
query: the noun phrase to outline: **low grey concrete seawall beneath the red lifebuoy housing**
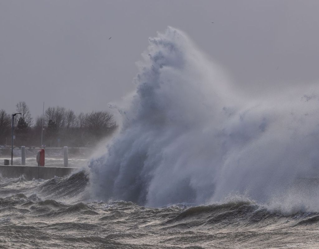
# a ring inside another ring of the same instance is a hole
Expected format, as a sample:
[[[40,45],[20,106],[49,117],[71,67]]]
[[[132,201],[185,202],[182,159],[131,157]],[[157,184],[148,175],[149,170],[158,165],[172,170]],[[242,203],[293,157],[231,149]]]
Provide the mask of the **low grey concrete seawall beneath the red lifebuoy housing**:
[[[32,180],[33,178],[38,179],[51,179],[55,176],[63,177],[70,175],[79,168],[71,167],[38,167],[38,166],[7,166],[0,165],[0,174],[3,177],[17,178],[24,175],[27,180]]]

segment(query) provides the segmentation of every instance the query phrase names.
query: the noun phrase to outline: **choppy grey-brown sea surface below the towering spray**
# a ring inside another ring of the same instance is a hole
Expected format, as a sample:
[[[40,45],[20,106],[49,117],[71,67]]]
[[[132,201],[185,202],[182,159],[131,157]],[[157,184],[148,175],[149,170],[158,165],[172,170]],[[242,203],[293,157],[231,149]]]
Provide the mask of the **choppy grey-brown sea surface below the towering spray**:
[[[90,201],[89,174],[0,178],[0,248],[318,248],[319,213]]]

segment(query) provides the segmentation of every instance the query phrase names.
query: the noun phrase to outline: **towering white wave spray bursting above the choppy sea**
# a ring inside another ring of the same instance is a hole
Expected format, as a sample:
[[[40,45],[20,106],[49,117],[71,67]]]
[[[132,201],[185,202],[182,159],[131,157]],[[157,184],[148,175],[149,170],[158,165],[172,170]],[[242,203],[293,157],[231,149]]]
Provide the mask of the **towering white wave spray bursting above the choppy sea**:
[[[149,42],[122,129],[89,163],[94,198],[162,206],[239,194],[315,209],[294,184],[319,171],[318,89],[243,99],[181,31]]]

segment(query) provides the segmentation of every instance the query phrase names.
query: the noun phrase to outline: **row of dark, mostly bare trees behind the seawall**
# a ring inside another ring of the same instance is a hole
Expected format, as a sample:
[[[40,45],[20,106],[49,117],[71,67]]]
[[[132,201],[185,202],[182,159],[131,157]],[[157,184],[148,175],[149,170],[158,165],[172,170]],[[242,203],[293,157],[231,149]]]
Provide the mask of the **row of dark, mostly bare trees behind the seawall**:
[[[14,118],[15,146],[40,146],[42,116],[33,120],[26,102],[19,102]],[[12,116],[0,110],[0,145],[11,145]],[[107,111],[80,112],[76,114],[64,107],[48,107],[43,115],[42,144],[46,147],[93,146],[102,138],[111,135],[118,125]]]

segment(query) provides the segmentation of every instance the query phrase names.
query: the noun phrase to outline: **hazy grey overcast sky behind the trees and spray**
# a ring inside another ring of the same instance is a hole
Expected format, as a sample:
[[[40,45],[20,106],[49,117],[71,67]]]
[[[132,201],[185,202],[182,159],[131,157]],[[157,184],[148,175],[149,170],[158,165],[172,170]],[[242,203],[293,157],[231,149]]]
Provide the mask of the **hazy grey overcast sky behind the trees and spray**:
[[[105,110],[134,89],[148,37],[168,25],[239,94],[318,83],[319,1],[0,0],[0,109]]]

